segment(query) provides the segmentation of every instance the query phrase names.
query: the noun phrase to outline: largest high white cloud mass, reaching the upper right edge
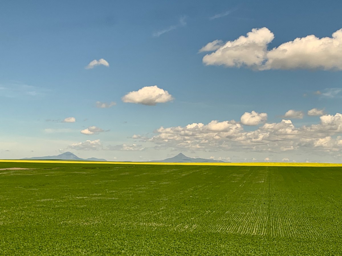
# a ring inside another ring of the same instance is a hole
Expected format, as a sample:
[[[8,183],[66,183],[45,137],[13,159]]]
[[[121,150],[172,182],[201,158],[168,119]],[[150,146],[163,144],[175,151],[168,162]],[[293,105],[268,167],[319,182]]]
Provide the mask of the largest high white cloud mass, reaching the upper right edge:
[[[217,49],[214,47],[211,50],[213,53],[203,57],[203,63],[226,67],[245,66],[256,70],[342,70],[342,29],[334,32],[332,37],[307,35],[268,51],[267,46],[273,39],[274,34],[268,28],[253,28],[247,36],[241,35]],[[217,45],[215,41],[211,42],[214,46]]]

